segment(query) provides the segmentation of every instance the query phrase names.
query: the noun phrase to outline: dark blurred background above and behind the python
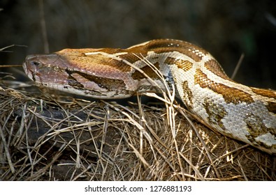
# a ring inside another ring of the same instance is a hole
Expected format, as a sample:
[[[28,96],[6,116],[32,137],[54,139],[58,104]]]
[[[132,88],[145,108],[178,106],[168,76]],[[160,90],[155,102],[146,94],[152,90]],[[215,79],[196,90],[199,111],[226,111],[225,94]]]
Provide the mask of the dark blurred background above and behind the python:
[[[174,38],[207,49],[229,76],[245,54],[235,81],[276,89],[274,0],[1,0],[0,24],[0,65],[64,48]],[[9,45],[27,47],[3,49]]]

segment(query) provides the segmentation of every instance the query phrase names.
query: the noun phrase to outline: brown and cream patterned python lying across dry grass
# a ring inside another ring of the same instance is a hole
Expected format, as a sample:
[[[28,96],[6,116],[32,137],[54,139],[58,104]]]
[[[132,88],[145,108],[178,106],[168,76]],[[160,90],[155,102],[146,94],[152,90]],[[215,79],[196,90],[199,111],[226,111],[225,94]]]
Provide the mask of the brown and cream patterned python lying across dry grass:
[[[189,42],[161,39],[127,49],[63,49],[29,55],[23,68],[39,85],[92,98],[175,88],[186,107],[212,129],[276,154],[276,91],[238,84],[208,52]]]

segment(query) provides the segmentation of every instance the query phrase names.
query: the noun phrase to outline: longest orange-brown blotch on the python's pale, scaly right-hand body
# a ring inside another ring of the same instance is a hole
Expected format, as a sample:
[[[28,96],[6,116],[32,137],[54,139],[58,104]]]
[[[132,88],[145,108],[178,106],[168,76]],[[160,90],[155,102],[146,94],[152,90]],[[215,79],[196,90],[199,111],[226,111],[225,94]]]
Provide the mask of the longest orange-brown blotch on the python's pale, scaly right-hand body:
[[[199,84],[202,88],[210,88],[210,90],[215,93],[221,94],[227,103],[232,102],[233,104],[239,104],[240,102],[254,102],[249,93],[245,93],[238,88],[231,88],[224,84],[216,83],[215,81],[210,80],[199,68],[196,69],[194,84]]]

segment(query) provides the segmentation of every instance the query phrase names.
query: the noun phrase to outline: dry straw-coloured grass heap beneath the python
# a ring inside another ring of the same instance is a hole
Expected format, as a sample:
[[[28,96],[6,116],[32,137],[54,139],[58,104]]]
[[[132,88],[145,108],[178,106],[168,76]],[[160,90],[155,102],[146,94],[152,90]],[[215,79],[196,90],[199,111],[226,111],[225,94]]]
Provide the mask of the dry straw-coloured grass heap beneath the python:
[[[122,106],[11,87],[0,90],[1,180],[276,180],[275,157],[212,132],[169,97]]]

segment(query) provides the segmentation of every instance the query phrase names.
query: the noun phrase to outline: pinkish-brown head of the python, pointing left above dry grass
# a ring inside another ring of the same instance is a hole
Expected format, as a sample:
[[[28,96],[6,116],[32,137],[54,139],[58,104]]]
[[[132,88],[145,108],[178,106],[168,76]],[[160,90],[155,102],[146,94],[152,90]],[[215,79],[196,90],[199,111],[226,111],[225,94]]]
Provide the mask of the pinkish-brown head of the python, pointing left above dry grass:
[[[136,91],[136,83],[132,83],[130,90],[126,86],[129,72],[112,68],[99,56],[85,56],[79,49],[29,55],[23,69],[40,86],[92,98],[128,98]]]

